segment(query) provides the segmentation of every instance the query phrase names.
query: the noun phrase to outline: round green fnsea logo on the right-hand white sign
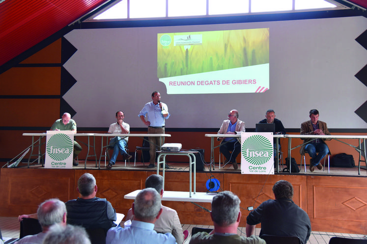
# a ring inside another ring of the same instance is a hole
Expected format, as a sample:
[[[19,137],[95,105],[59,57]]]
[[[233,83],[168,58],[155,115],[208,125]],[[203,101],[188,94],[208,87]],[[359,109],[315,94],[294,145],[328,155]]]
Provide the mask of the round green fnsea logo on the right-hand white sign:
[[[252,165],[263,165],[273,157],[273,147],[266,137],[253,135],[243,142],[242,155]]]

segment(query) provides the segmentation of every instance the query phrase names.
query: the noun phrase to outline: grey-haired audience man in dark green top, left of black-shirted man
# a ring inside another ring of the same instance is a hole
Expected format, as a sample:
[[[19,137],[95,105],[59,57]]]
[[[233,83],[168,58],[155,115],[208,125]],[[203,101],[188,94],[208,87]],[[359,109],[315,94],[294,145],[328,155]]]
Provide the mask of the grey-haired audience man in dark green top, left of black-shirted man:
[[[210,216],[214,223],[211,233],[199,232],[191,237],[190,244],[265,244],[265,241],[255,237],[237,235],[240,223],[240,199],[229,191],[220,192],[213,197]]]

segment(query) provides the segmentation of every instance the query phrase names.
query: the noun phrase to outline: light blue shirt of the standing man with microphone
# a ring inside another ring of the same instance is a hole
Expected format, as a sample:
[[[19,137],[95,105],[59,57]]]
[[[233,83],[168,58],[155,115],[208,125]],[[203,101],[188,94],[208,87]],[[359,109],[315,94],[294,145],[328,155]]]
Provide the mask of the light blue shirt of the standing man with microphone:
[[[163,102],[161,102],[161,104],[168,113],[167,104]],[[162,110],[159,107],[159,103],[157,105],[154,105],[152,101],[145,104],[143,109],[141,109],[138,116],[141,116],[141,115],[146,117],[147,120],[150,121],[150,126],[153,126],[153,127],[165,126],[165,119],[167,120],[170,116],[170,114],[168,114],[166,118],[163,117]]]

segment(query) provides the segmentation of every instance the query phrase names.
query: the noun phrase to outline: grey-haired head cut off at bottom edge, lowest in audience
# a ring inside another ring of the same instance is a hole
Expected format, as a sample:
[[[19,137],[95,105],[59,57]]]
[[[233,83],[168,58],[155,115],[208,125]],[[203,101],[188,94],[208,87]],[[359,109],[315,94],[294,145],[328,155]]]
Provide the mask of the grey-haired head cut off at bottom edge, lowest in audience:
[[[54,225],[47,233],[43,244],[90,244],[90,240],[81,226]]]

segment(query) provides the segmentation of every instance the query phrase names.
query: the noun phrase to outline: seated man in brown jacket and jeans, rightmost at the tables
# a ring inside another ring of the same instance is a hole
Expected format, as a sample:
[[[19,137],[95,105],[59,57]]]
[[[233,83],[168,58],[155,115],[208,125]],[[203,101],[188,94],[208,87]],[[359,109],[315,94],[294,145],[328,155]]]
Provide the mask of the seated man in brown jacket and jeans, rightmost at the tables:
[[[310,121],[303,122],[301,124],[301,135],[330,135],[328,130],[328,126],[325,122],[318,120],[318,111],[317,109],[311,109],[310,111]],[[322,170],[323,167],[320,164],[320,160],[325,157],[330,151],[329,147],[324,142],[325,140],[331,139],[321,139],[316,138],[315,140],[306,139],[304,142],[306,143],[301,147],[300,153],[301,155],[307,151],[311,157],[310,159],[310,171],[313,172],[315,167],[319,170]],[[310,142],[310,143],[307,143]],[[316,154],[318,152],[318,154]]]

